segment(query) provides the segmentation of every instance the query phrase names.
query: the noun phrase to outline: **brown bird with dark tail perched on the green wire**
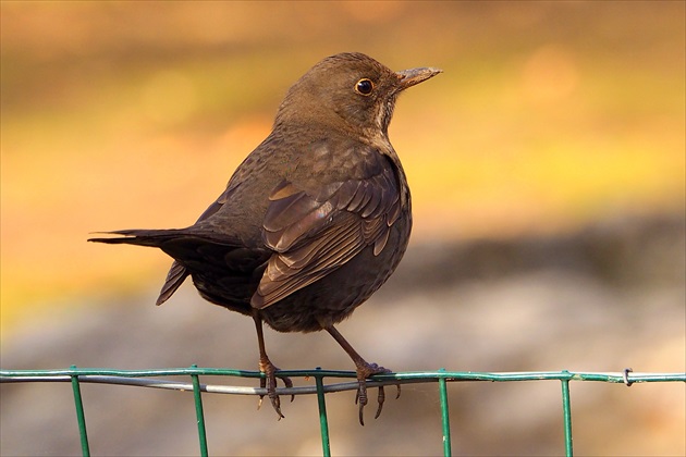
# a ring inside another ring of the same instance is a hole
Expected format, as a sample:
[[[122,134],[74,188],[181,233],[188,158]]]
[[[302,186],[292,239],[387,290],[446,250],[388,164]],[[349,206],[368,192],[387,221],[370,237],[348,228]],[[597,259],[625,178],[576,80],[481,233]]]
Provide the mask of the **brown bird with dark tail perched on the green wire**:
[[[253,317],[260,385],[279,418],[279,368],[267,357],[262,322],[279,332],[329,332],[355,363],[364,424],[365,380],[390,370],[365,361],[333,325],[405,252],[409,188],[388,127],[399,94],[440,72],[393,72],[362,53],[326,58],[289,89],[272,132],[195,224],[89,240],[158,247],[174,258],[157,305],[189,275],[205,299]],[[377,417],[382,387],[378,403]]]

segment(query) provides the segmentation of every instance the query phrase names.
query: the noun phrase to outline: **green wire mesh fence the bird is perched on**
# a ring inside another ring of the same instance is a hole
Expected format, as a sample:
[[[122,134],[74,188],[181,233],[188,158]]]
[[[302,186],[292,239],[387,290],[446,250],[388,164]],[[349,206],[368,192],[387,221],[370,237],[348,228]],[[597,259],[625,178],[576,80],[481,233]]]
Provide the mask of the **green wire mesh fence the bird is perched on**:
[[[160,376],[187,375],[191,383],[181,381],[159,380]],[[86,431],[86,418],[84,405],[81,396],[82,383],[103,383],[123,384],[144,387],[168,388],[176,391],[192,391],[195,398],[195,410],[198,423],[198,440],[201,456],[208,455],[208,443],[205,429],[205,415],[203,411],[203,393],[221,393],[234,395],[266,395],[265,388],[231,386],[231,385],[209,385],[201,384],[200,376],[234,376],[234,378],[260,378],[264,374],[259,371],[243,371],[220,368],[171,368],[159,370],[110,370],[110,369],[85,369],[72,366],[65,370],[0,370],[0,382],[71,382],[74,393],[74,404],[76,407],[76,419],[81,435],[81,447],[84,456],[89,456],[88,433]],[[278,388],[280,395],[305,395],[316,394],[319,405],[319,427],[321,432],[322,455],[330,456],[329,422],[327,417],[326,394],[330,392],[357,390],[357,382],[342,382],[324,384],[324,378],[352,379],[356,380],[353,371],[331,371],[331,370],[294,370],[279,371],[279,375],[289,378],[314,378],[315,385],[297,386],[291,388]],[[443,430],[443,454],[451,455],[450,437],[450,412],[448,405],[448,383],[455,381],[560,381],[562,386],[562,413],[564,427],[565,454],[573,455],[572,441],[572,410],[569,407],[569,382],[571,381],[596,381],[630,386],[634,383],[646,382],[686,382],[686,373],[634,373],[630,369],[618,373],[599,372],[569,372],[563,371],[540,371],[540,372],[511,372],[511,373],[482,373],[470,371],[420,371],[388,373],[373,376],[375,381],[367,383],[368,387],[378,385],[400,385],[408,383],[438,382],[439,398],[441,405],[441,421]]]

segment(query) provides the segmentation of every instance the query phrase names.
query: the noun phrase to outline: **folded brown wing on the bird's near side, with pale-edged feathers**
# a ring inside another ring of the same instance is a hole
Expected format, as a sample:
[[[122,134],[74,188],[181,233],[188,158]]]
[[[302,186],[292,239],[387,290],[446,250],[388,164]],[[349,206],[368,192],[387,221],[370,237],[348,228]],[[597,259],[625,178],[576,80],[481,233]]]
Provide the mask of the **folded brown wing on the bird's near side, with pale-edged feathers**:
[[[369,177],[333,183],[316,195],[283,181],[271,193],[264,238],[269,259],[252,305],[265,308],[336,270],[373,245],[384,248],[401,199],[391,166]]]

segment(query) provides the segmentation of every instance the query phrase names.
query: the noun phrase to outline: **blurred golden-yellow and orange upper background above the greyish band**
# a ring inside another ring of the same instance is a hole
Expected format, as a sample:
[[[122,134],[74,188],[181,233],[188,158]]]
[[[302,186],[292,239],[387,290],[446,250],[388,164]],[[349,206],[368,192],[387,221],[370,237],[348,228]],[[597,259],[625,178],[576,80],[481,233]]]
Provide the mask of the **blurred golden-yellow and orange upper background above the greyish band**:
[[[191,224],[340,51],[445,71],[391,124],[413,243],[683,212],[684,2],[3,1],[1,21],[3,334],[159,281],[164,256],[88,234]]]

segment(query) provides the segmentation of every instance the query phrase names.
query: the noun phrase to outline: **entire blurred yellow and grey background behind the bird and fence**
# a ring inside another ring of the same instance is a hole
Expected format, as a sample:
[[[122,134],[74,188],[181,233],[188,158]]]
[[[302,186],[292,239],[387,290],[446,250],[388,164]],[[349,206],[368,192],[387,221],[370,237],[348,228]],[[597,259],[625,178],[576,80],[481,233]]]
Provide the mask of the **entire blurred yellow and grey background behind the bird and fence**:
[[[357,350],[396,371],[686,370],[684,2],[0,8],[3,369],[256,369],[249,319],[191,282],[157,308],[164,255],[86,238],[193,223],[287,87],[362,51],[444,73],[391,123],[415,226],[341,325]],[[353,369],[328,335],[266,338],[281,368]],[[1,390],[0,454],[79,454],[68,384]],[[83,390],[95,454],[197,454],[191,395]],[[453,452],[562,454],[559,391],[451,384]],[[365,428],[352,393],[328,398],[334,455],[442,452],[434,385]],[[683,383],[573,383],[572,400],[579,455],[686,453]],[[315,398],[280,422],[256,403],[205,396],[211,454],[320,453]]]

